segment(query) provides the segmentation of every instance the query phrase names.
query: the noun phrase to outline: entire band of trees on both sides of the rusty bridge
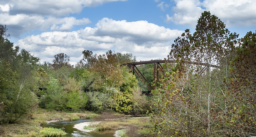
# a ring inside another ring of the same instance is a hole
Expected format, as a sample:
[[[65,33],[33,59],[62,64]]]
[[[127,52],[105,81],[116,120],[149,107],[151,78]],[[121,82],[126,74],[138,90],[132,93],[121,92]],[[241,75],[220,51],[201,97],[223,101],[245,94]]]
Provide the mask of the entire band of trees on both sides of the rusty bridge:
[[[150,136],[256,136],[256,32],[239,39],[208,11],[193,34],[187,29],[174,40],[166,61],[176,63],[163,64],[154,96],[141,95],[146,85],[120,66],[136,61],[132,54],[84,50],[75,66],[64,53],[40,64],[38,57],[13,47],[6,26],[0,30],[0,124],[12,123],[36,107],[111,109],[151,113],[155,126]],[[138,68],[149,83],[157,82],[153,64]]]

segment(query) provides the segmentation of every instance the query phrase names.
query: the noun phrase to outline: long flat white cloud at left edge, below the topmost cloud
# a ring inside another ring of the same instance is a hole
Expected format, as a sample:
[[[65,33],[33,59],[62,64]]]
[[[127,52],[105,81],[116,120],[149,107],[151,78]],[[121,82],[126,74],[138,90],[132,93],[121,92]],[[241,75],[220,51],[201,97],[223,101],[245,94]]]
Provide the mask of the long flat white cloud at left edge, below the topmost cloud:
[[[30,32],[33,30],[46,31],[49,28],[52,31],[69,31],[73,28],[74,25],[85,25],[90,23],[88,18],[44,18],[38,15],[8,15],[7,13],[0,13],[0,16],[0,22],[2,24],[8,25],[8,28],[14,28],[8,30],[8,33],[10,33],[13,37],[19,37],[23,32]]]

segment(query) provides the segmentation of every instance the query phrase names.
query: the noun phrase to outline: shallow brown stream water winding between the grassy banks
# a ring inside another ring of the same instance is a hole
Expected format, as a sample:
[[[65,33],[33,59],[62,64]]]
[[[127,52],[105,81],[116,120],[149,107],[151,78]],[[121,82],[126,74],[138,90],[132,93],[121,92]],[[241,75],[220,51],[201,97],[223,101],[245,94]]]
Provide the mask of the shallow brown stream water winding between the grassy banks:
[[[73,128],[74,125],[91,121],[89,119],[79,119],[76,121],[70,121],[70,120],[64,120],[64,121],[58,121],[58,122],[51,122],[48,123],[45,127],[54,127],[54,128],[61,128],[64,130],[67,135],[66,137],[113,137],[115,130],[109,130],[104,132],[83,132],[76,128]]]

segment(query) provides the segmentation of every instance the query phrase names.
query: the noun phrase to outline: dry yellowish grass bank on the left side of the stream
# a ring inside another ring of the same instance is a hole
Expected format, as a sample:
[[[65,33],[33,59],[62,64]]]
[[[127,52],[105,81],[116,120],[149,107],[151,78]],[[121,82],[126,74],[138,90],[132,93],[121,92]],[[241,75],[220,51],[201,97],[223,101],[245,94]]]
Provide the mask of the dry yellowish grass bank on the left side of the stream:
[[[0,136],[15,136],[15,137],[42,137],[41,131],[44,124],[48,120],[68,120],[71,118],[95,118],[99,114],[93,112],[68,113],[58,111],[46,111],[38,108],[27,116],[17,119],[13,124],[0,125]]]

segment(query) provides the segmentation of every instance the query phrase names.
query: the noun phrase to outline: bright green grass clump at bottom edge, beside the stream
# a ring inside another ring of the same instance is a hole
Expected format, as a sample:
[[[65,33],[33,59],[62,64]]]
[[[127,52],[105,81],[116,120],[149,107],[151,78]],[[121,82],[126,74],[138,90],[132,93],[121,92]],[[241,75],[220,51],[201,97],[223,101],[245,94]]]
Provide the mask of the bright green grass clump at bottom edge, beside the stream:
[[[61,129],[52,128],[52,127],[44,127],[42,130],[40,130],[39,134],[43,134],[44,137],[57,137],[57,136],[64,136],[67,133],[65,133]]]

